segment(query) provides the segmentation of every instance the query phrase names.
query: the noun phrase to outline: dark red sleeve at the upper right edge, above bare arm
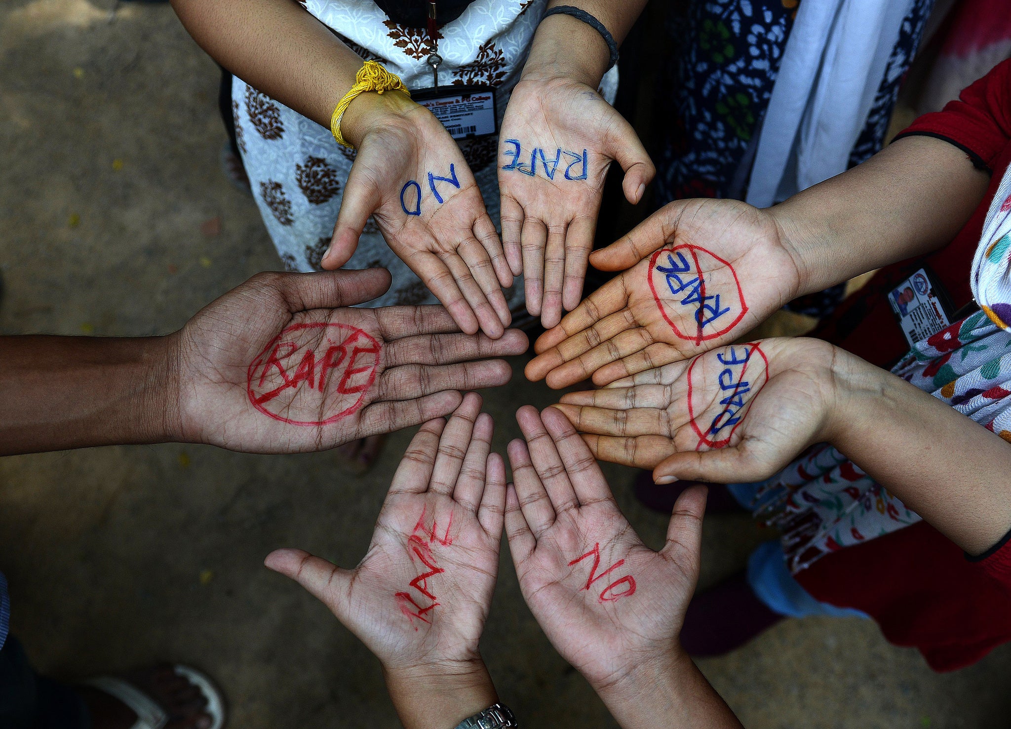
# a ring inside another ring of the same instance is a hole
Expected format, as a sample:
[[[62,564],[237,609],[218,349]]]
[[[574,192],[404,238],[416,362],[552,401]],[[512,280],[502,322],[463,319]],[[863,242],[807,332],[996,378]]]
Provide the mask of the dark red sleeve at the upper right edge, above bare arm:
[[[993,170],[1011,141],[1011,59],[962,90],[941,111],[924,114],[895,139],[935,136],[963,151],[977,167]]]

